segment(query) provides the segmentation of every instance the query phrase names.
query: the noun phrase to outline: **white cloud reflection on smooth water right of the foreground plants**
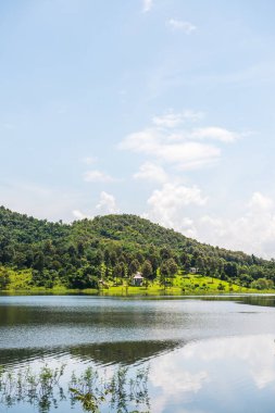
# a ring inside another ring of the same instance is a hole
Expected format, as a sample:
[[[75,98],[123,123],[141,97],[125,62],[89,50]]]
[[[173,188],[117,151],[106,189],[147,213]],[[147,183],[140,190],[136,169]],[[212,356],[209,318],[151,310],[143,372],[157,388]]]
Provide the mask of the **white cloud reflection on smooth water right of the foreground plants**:
[[[262,398],[275,390],[274,354],[272,335],[202,340],[164,354],[151,362],[152,411],[242,412],[246,398],[253,412],[265,411]]]

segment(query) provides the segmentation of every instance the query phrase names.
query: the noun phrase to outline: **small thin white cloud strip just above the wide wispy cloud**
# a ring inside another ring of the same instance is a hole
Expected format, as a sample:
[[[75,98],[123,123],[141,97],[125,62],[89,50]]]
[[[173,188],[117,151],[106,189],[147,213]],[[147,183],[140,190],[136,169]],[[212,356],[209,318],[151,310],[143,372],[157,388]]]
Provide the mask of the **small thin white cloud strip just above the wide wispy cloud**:
[[[168,113],[162,115],[162,116],[153,116],[152,123],[157,126],[162,127],[176,127],[185,123],[186,121],[200,121],[203,118],[202,112],[193,112],[193,111],[183,111],[179,113],[174,113],[173,111],[170,111]]]

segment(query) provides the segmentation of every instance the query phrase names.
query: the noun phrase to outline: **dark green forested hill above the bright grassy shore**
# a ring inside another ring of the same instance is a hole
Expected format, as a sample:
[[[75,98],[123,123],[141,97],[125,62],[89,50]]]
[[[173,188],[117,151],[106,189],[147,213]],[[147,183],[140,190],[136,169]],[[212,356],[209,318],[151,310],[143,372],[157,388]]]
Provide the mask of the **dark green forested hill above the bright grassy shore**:
[[[3,206],[0,264],[29,268],[30,283],[46,287],[87,288],[102,278],[127,278],[138,270],[152,279],[191,267],[246,286],[263,277],[275,280],[273,261],[203,245],[135,215],[97,216],[67,225]]]

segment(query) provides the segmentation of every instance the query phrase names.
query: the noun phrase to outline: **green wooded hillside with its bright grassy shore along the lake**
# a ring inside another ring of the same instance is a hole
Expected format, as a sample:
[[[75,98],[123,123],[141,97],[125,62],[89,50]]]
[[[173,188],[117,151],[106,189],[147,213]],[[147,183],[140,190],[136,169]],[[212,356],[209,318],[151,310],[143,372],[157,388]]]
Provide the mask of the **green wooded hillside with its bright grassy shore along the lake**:
[[[0,208],[3,292],[275,292],[274,280],[274,260],[200,243],[135,215],[68,225]]]

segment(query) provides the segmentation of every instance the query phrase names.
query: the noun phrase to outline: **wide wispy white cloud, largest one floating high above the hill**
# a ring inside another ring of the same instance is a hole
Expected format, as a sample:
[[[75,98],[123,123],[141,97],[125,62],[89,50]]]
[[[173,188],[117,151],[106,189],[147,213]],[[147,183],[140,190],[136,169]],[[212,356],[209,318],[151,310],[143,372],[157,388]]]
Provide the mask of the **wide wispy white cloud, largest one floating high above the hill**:
[[[218,143],[234,142],[243,134],[218,126],[178,129],[185,121],[193,122],[202,117],[203,114],[200,112],[168,111],[162,116],[154,116],[151,127],[126,136],[118,148],[141,153],[152,161],[170,164],[178,171],[214,165],[221,158]]]

